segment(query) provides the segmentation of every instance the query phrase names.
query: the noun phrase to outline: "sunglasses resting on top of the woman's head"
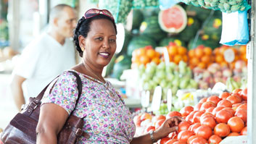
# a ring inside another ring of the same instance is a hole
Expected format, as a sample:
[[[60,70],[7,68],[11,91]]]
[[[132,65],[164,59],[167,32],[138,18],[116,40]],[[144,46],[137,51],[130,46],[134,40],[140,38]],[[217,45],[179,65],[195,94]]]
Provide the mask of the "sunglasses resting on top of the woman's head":
[[[96,15],[99,15],[100,12],[102,12],[102,14],[106,15],[107,17],[110,17],[111,20],[114,20],[114,17],[112,16],[111,12],[108,11],[107,9],[89,9],[84,15],[83,17],[85,19],[91,18],[91,17],[95,17]],[[114,20],[115,21],[115,20]]]

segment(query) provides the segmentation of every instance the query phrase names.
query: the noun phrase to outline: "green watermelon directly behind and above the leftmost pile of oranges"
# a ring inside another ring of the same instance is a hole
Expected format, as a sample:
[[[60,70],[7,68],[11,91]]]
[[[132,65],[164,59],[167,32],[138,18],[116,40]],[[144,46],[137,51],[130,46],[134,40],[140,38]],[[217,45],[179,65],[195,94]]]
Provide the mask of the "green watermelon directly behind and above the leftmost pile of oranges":
[[[128,44],[127,55],[131,56],[135,49],[144,48],[145,46],[152,46],[154,48],[157,46],[157,43],[146,35],[134,36]]]

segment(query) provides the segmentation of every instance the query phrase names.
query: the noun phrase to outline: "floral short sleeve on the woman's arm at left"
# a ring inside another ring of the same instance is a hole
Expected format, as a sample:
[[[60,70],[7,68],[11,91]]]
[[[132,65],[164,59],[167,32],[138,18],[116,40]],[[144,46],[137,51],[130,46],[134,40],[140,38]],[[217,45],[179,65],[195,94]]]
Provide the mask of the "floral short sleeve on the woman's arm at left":
[[[75,103],[78,98],[78,84],[75,75],[65,71],[59,75],[55,85],[53,87],[51,85],[44,93],[41,104],[55,103],[70,114],[75,109]],[[50,90],[51,93],[49,93]]]

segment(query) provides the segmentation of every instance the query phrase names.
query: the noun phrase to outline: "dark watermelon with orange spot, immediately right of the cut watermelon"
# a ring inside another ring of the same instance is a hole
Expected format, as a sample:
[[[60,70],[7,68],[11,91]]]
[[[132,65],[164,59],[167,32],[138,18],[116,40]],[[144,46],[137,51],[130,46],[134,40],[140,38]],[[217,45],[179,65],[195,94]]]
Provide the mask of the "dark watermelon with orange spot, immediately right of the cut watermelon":
[[[197,35],[197,31],[200,28],[199,20],[195,17],[188,17],[188,23],[186,25],[185,30],[183,30],[179,36],[181,37],[182,41],[189,42],[191,38],[194,38],[195,35]]]

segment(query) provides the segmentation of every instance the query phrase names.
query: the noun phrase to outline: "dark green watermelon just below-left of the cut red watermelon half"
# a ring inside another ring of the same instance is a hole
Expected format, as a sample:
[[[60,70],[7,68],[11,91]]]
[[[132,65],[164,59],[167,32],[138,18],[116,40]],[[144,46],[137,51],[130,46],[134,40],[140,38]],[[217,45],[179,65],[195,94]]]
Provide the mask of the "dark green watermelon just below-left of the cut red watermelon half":
[[[141,35],[146,35],[154,41],[160,41],[166,36],[166,33],[161,30],[160,25],[158,24],[157,16],[147,17],[144,22],[141,22],[139,30]]]

